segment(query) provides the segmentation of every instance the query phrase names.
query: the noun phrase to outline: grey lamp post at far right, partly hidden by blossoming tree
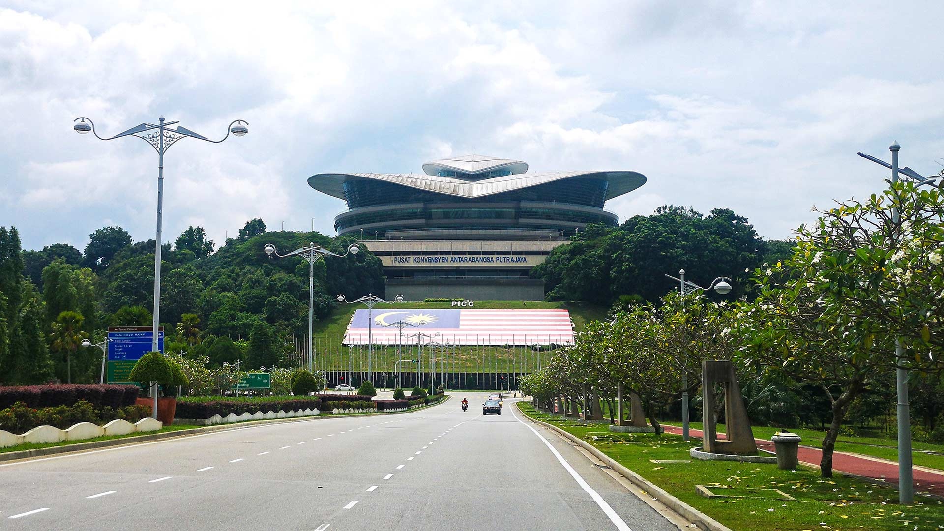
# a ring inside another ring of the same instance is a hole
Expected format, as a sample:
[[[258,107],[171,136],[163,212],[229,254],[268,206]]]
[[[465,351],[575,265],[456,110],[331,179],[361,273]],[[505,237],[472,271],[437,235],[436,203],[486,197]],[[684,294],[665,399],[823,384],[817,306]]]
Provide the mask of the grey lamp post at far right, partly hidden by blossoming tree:
[[[898,167],[898,152],[902,149],[898,141],[895,141],[888,150],[891,151],[891,163],[885,163],[882,159],[877,159],[865,153],[858,153],[863,159],[877,164],[881,164],[891,170],[891,181],[896,183],[899,180],[899,174],[918,182],[918,185],[936,184],[939,178],[927,178],[915,170],[904,166]],[[891,209],[891,222],[898,225],[901,214],[897,207]],[[912,478],[911,463],[911,411],[908,404],[908,371],[903,367],[906,361],[906,352],[902,347],[902,340],[895,339],[895,358],[898,368],[895,370],[895,381],[898,387],[898,501],[902,504],[910,504],[915,500],[915,485]]]

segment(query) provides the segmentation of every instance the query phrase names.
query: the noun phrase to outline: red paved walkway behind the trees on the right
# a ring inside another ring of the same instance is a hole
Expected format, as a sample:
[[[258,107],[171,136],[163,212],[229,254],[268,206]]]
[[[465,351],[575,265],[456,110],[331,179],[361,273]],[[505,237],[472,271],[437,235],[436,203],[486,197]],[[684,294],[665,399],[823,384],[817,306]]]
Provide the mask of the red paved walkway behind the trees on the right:
[[[680,426],[668,424],[662,425],[666,432],[682,435]],[[688,430],[691,437],[701,438],[701,430]],[[717,434],[718,438],[724,437],[723,433]],[[773,442],[762,438],[755,438],[757,448],[774,451]],[[819,460],[822,458],[822,450],[809,446],[801,446],[799,451],[801,462],[812,467],[819,467]],[[876,457],[867,455],[847,454],[845,452],[835,452],[833,454],[833,470],[847,472],[855,475],[861,475],[874,479],[885,480],[889,483],[898,484],[898,463],[885,461]],[[915,467],[912,471],[915,481],[916,491],[927,491],[937,496],[944,496],[944,471],[933,471],[924,467]]]

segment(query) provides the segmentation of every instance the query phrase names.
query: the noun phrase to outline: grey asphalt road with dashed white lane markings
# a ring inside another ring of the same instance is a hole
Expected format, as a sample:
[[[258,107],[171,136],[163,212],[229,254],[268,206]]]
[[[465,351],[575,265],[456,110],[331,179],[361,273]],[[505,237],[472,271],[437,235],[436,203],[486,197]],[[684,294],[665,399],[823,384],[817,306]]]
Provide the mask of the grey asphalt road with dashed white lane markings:
[[[678,529],[513,401],[466,396],[0,464],[0,529]]]

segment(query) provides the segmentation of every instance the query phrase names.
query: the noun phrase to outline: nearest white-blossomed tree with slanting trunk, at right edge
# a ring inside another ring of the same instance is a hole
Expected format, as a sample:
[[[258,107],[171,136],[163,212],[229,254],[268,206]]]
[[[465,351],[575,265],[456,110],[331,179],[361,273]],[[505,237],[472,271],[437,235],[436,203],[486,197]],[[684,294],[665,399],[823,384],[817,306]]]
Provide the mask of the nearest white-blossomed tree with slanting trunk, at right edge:
[[[760,295],[739,309],[737,332],[744,365],[818,385],[829,398],[820,471],[831,477],[839,427],[872,378],[944,368],[944,198],[900,182],[819,214],[798,230],[791,258],[755,272]],[[907,357],[895,357],[896,339]]]

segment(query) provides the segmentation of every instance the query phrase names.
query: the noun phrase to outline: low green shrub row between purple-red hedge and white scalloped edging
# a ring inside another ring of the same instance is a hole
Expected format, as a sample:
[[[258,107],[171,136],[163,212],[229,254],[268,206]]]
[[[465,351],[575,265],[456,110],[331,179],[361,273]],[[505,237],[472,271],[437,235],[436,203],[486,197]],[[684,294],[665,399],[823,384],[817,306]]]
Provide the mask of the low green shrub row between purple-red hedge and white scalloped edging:
[[[123,386],[123,385],[115,385]],[[0,430],[14,434],[23,434],[36,426],[48,424],[64,430],[78,422],[93,422],[103,425],[111,420],[123,419],[137,422],[151,415],[151,408],[146,405],[124,405],[95,407],[93,403],[79,400],[72,405],[54,405],[51,407],[29,407],[17,402],[0,409]]]

